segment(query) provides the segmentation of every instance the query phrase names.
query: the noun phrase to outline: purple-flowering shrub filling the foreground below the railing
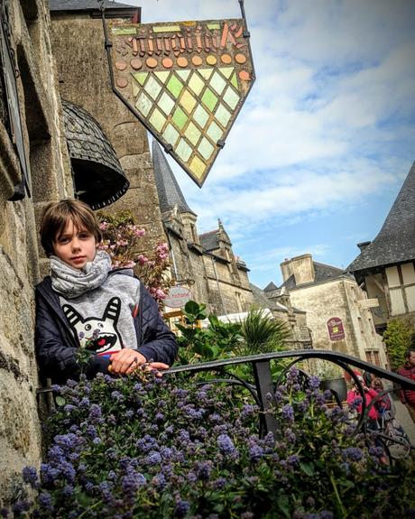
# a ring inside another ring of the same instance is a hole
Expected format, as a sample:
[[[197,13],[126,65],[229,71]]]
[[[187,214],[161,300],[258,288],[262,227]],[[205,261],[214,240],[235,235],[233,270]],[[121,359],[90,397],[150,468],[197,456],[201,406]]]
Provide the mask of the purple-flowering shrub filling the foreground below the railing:
[[[327,406],[311,376],[291,368],[274,399],[275,436],[230,386],[136,374],[54,387],[51,445],[38,496],[16,516],[68,519],[388,517],[415,507],[414,470],[366,448],[346,412]],[[3,511],[4,516],[7,512]]]

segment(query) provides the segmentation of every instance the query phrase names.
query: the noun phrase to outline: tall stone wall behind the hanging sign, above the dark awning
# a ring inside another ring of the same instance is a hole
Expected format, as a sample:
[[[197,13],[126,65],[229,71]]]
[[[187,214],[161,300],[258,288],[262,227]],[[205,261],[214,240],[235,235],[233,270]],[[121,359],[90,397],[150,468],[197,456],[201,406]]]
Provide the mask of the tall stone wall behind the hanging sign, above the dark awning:
[[[106,210],[133,212],[147,232],[141,252],[149,254],[166,236],[147,134],[111,88],[102,21],[87,14],[52,14],[51,33],[61,97],[87,110],[102,126],[130,181],[130,189]]]

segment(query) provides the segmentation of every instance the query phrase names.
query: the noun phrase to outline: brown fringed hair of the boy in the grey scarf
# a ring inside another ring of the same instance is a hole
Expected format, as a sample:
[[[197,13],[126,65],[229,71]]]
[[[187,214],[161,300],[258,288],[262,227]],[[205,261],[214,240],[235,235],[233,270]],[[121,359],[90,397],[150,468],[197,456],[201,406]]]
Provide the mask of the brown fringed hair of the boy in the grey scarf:
[[[40,231],[42,247],[48,257],[53,254],[53,244],[69,221],[72,221],[74,227],[89,231],[95,236],[97,243],[102,240],[97,218],[86,203],[76,199],[51,202],[43,211]]]

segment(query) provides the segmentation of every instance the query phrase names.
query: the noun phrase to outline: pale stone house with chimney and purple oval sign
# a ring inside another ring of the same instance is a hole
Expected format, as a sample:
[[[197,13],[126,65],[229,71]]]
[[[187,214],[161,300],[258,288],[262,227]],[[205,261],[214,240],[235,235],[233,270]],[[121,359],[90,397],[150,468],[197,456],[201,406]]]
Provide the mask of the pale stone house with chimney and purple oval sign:
[[[374,329],[367,297],[355,279],[337,267],[313,261],[309,254],[281,263],[283,283],[264,292],[307,312],[312,345],[362,358],[386,367],[382,339]]]

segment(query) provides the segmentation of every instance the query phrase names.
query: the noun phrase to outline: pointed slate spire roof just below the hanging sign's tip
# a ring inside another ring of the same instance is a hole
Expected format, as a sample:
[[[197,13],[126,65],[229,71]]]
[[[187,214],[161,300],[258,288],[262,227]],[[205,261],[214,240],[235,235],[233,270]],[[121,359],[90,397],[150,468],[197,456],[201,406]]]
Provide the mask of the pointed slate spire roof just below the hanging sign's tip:
[[[185,200],[176,181],[169,162],[161,150],[160,144],[152,139],[152,165],[154,168],[157,191],[159,193],[161,213],[171,211],[176,206],[180,213],[193,213]]]

